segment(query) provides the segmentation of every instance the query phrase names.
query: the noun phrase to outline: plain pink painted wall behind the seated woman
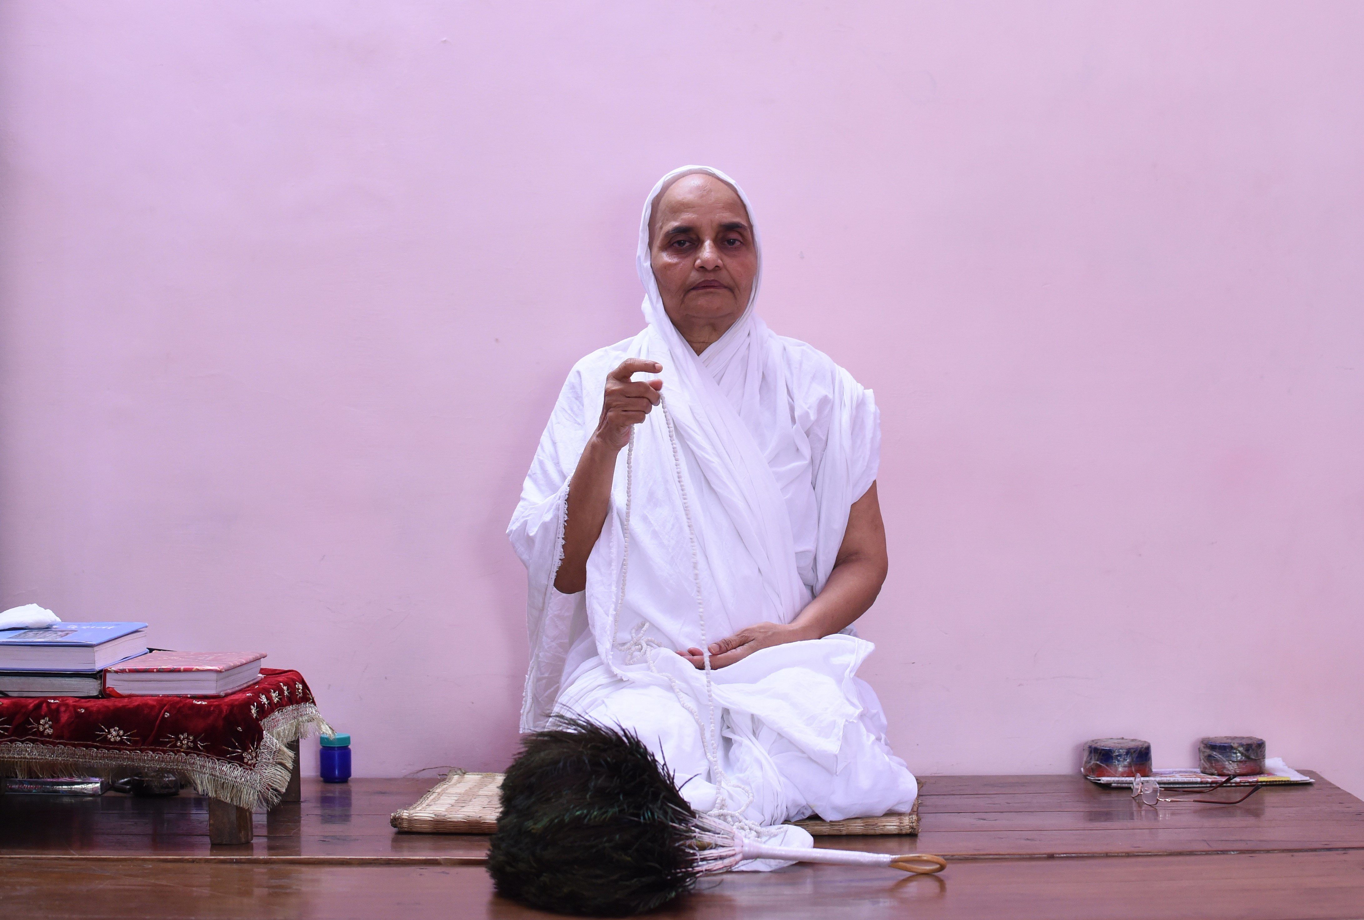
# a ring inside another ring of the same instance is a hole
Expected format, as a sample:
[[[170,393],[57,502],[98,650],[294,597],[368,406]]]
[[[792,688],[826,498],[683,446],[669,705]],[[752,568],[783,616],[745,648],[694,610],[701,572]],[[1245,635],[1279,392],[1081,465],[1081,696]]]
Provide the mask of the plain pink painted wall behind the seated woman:
[[[361,774],[503,766],[503,527],[708,162],[771,326],[881,405],[911,767],[1254,732],[1364,793],[1361,46],[1356,3],[8,0],[0,602],[267,650]]]

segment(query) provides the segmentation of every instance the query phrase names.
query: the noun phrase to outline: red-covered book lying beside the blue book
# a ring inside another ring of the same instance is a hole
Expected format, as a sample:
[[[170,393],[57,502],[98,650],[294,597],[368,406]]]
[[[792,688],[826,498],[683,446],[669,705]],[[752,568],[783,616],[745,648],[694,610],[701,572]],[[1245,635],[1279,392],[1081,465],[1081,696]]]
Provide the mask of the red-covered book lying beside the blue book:
[[[149,651],[104,671],[110,696],[225,696],[255,683],[265,651]]]

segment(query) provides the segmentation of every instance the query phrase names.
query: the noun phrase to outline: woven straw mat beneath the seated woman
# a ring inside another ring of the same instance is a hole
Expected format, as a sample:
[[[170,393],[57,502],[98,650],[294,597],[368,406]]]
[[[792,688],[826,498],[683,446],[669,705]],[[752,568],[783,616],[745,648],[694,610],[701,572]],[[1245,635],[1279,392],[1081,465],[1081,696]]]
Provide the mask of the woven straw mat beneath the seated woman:
[[[501,773],[451,773],[416,804],[394,811],[389,823],[417,834],[491,834],[498,827]],[[853,834],[918,834],[919,803],[908,814],[795,822],[816,837]]]

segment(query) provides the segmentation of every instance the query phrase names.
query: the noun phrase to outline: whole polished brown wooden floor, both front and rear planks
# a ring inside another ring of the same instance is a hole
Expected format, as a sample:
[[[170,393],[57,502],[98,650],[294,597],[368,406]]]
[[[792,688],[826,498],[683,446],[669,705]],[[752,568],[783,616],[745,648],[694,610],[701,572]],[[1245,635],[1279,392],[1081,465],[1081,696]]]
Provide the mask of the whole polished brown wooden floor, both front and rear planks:
[[[232,848],[209,844],[196,796],[3,796],[3,916],[533,915],[492,894],[486,838],[389,827],[430,784],[306,781],[300,804],[256,815],[256,840]],[[1079,777],[925,777],[921,814],[918,838],[820,842],[940,853],[941,876],[730,874],[659,916],[1364,917],[1364,803],[1324,780],[1154,811]]]

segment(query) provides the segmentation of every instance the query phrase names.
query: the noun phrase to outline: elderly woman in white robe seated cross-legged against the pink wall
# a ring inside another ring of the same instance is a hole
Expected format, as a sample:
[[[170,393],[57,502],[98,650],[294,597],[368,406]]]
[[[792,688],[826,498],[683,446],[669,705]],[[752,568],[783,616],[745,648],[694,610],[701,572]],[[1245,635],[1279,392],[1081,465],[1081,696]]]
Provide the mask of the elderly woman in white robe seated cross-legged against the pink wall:
[[[908,811],[918,792],[851,630],[887,568],[876,403],[768,330],[760,255],[727,176],[659,181],[648,326],[573,367],[507,530],[529,571],[521,729],[621,725],[694,808],[752,831]]]

